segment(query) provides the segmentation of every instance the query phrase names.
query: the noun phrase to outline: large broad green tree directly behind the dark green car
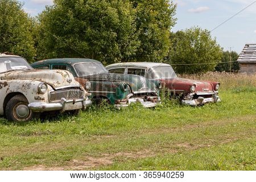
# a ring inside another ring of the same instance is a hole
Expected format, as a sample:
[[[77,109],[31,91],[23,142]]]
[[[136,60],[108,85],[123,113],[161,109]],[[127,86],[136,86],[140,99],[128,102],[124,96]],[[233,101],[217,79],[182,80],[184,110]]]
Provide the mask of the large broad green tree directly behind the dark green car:
[[[110,64],[135,55],[139,41],[129,1],[54,2],[39,16],[40,57],[88,57]]]

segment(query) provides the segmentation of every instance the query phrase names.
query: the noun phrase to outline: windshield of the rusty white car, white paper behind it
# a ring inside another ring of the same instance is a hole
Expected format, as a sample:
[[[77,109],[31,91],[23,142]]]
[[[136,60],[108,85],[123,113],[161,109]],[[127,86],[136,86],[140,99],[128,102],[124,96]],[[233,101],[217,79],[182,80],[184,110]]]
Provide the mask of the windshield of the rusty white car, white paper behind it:
[[[0,57],[0,73],[26,69],[33,68],[22,57]]]

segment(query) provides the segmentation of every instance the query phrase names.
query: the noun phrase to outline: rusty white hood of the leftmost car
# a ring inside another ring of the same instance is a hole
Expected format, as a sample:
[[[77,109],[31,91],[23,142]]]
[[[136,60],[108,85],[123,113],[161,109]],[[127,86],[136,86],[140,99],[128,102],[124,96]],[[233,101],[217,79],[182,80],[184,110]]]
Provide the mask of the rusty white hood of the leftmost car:
[[[1,74],[2,80],[37,80],[46,82],[52,88],[59,88],[63,86],[77,85],[80,86],[71,73],[64,70],[16,70]],[[70,80],[68,82],[68,80]]]

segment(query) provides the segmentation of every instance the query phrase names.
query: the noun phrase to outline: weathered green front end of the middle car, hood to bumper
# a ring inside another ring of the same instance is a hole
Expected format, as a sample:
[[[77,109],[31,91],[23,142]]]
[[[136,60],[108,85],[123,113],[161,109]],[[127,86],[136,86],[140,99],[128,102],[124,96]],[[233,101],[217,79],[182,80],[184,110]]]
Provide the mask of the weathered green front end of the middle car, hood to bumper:
[[[92,99],[106,98],[116,108],[135,102],[141,103],[143,107],[155,107],[160,102],[154,82],[142,76],[101,73],[82,78],[90,80],[92,84],[89,90]]]

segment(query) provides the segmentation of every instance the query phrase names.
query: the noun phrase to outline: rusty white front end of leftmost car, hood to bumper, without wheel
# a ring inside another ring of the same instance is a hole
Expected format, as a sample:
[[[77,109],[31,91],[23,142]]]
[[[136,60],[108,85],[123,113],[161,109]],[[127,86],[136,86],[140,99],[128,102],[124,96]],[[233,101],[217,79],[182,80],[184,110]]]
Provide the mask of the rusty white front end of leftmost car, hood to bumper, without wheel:
[[[43,113],[85,109],[92,104],[88,93],[75,80],[71,73],[62,70],[26,70],[12,71],[2,75],[2,79],[11,80],[9,90],[18,90],[28,100],[28,109]],[[14,83],[16,82],[16,83]],[[20,86],[17,86],[19,83]]]

